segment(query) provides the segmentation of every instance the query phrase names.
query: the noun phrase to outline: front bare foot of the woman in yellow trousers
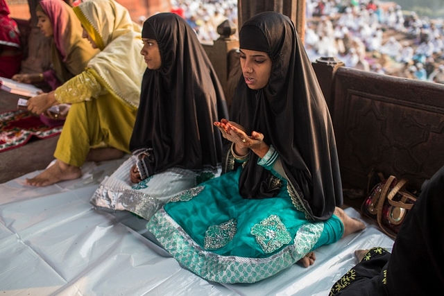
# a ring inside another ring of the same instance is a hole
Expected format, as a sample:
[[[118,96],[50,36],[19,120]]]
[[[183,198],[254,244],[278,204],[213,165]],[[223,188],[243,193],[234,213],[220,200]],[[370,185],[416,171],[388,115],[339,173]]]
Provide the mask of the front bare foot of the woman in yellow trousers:
[[[26,185],[43,187],[55,184],[60,181],[74,180],[82,175],[82,170],[78,166],[71,166],[56,160],[56,163],[46,168],[40,175],[31,179],[26,178]]]

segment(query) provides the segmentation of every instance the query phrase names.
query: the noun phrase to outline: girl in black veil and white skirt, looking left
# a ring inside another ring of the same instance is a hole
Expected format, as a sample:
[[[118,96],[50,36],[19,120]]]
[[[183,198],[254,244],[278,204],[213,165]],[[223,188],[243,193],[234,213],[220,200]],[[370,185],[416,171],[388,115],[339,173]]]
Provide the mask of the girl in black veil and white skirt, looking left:
[[[185,19],[159,13],[144,22],[147,65],[130,150],[93,204],[149,219],[171,196],[214,177],[223,143],[214,121],[228,116],[210,60]]]

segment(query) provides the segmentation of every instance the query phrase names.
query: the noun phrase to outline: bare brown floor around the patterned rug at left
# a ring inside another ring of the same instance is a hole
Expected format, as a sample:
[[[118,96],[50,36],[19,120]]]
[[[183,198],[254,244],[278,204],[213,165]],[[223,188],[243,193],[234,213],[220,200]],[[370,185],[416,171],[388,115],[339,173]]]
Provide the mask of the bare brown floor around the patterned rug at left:
[[[19,96],[0,89],[0,112],[15,110]],[[26,173],[42,170],[54,159],[59,136],[32,138],[20,148],[0,153],[0,184]],[[0,193],[1,195],[1,193]]]

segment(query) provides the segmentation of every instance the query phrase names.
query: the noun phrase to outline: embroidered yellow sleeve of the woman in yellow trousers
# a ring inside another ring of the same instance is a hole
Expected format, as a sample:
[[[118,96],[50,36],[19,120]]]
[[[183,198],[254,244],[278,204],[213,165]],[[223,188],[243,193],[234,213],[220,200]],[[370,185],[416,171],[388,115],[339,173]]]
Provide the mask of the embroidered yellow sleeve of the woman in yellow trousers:
[[[82,73],[69,79],[63,85],[60,85],[54,92],[54,96],[59,103],[79,103],[90,101],[108,91],[92,74],[91,69],[86,69]]]

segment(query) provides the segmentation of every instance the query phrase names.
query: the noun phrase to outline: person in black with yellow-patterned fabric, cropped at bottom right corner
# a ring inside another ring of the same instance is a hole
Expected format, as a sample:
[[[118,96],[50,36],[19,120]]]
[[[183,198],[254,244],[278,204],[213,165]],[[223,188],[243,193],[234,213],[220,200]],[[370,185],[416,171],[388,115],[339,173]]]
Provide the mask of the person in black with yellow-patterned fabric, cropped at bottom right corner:
[[[444,166],[422,186],[395,238],[355,252],[359,263],[330,290],[333,296],[434,295],[444,289]]]

